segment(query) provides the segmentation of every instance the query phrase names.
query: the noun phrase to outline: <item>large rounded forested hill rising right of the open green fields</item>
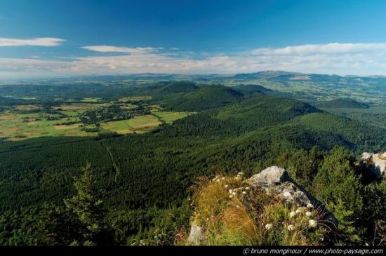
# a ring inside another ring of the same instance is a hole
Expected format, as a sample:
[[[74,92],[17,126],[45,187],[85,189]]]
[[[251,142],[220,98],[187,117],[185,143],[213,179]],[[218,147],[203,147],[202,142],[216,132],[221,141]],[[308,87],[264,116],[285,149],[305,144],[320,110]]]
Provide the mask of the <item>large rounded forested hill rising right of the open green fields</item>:
[[[213,109],[176,121],[161,130],[171,136],[225,137],[266,134],[293,140],[293,145],[329,149],[340,144],[356,151],[382,150],[385,130],[322,112],[297,100],[257,95],[227,107]],[[251,139],[253,140],[253,139]],[[244,142],[243,142],[244,143]],[[242,143],[241,143],[242,144]]]

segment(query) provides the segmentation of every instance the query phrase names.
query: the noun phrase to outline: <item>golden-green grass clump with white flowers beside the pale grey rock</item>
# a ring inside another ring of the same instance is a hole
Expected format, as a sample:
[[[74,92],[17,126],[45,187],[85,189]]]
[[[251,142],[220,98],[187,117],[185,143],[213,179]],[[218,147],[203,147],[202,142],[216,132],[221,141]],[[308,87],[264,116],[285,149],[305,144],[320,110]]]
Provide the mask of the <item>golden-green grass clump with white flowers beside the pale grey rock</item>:
[[[192,222],[205,232],[202,245],[326,244],[328,228],[318,209],[251,187],[244,173],[201,178],[192,205]]]

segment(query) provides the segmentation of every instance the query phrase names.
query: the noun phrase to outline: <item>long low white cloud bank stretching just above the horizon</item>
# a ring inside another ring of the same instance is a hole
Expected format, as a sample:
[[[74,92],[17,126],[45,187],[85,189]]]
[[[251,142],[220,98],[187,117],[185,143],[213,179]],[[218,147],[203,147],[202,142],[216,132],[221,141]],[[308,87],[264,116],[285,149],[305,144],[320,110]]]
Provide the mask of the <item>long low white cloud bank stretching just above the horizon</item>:
[[[1,42],[1,40],[0,40]],[[1,76],[180,73],[234,74],[285,70],[321,74],[386,74],[386,43],[326,43],[256,48],[237,53],[184,53],[153,47],[84,46],[88,57],[1,59]],[[100,53],[100,54],[98,54]],[[96,54],[96,55],[95,55]]]

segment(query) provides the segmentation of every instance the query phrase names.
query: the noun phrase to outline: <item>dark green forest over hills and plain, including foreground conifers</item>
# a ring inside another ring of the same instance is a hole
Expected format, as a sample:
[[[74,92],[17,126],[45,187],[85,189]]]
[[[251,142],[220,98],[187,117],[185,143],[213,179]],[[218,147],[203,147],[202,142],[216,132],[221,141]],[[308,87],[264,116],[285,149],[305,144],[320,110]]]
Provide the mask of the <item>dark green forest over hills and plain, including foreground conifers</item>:
[[[0,141],[0,245],[172,245],[189,229],[198,177],[253,175],[272,165],[335,214],[341,225],[333,243],[385,238],[385,180],[358,161],[364,151],[386,150],[379,126],[263,87],[173,81],[8,89],[0,95],[39,97],[30,102],[151,95],[152,104],[197,114],[141,135]],[[4,99],[4,107],[15,104]],[[127,117],[114,106],[98,111],[85,112],[85,120]]]

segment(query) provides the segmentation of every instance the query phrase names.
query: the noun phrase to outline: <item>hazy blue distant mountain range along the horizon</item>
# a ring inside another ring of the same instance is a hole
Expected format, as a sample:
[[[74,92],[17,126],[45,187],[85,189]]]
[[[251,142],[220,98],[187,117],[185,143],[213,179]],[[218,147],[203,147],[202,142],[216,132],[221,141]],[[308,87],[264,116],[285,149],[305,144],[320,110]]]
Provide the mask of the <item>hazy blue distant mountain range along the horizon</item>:
[[[154,85],[159,82],[187,81],[199,86],[222,84],[225,86],[255,85],[315,103],[326,100],[349,99],[366,105],[386,105],[386,76],[338,76],[302,74],[299,72],[262,71],[248,74],[128,74],[120,76],[82,76],[66,79],[13,81],[6,84],[90,85],[124,84]],[[154,83],[154,84],[153,84]],[[4,82],[1,84],[5,84]],[[245,89],[245,88],[244,88]],[[249,90],[249,89],[248,89]],[[162,92],[159,92],[162,94]],[[268,93],[269,94],[269,93]]]

